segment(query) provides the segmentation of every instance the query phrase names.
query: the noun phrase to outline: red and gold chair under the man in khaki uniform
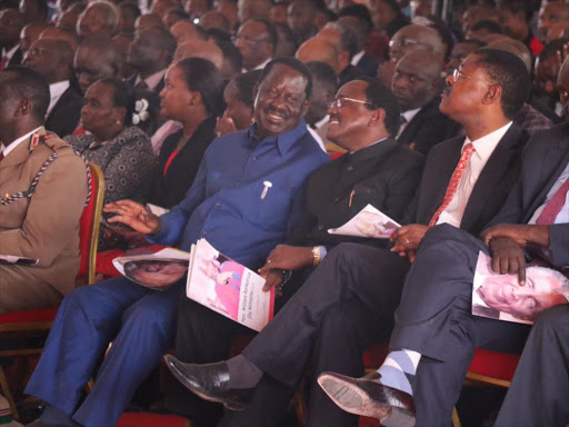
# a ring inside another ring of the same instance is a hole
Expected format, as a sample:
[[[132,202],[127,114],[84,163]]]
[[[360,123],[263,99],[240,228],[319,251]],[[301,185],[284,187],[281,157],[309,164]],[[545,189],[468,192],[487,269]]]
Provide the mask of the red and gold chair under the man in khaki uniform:
[[[88,163],[88,167],[91,175],[91,198],[89,203],[83,208],[81,218],[79,219],[79,250],[81,251],[81,260],[77,280],[78,282],[83,281],[90,285],[94,282],[97,244],[104,197],[104,177],[97,165]],[[46,334],[51,328],[57,311],[57,308],[44,308],[1,315],[0,338]],[[0,357],[39,355],[41,351],[42,348],[0,350]],[[1,367],[0,386],[4,397],[10,403],[14,419],[18,419],[16,403]]]

